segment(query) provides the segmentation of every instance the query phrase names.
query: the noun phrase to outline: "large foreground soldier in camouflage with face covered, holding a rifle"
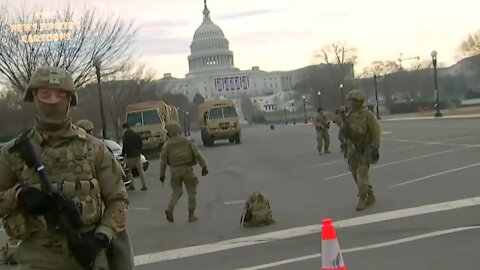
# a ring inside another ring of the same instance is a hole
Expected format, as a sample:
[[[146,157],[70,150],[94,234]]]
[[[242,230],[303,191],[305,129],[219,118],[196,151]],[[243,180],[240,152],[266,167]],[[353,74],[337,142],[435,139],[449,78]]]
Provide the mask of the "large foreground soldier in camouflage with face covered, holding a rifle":
[[[0,153],[0,217],[5,232],[22,240],[15,260],[20,269],[80,270],[80,261],[92,269],[111,269],[106,249],[125,230],[128,211],[122,168],[100,140],[71,123],[70,107],[78,99],[66,70],[37,69],[24,100],[38,111],[27,136],[54,188],[78,206],[83,225],[72,253],[66,233],[46,223],[53,201],[41,190],[34,169],[10,151],[16,140],[10,141]]]

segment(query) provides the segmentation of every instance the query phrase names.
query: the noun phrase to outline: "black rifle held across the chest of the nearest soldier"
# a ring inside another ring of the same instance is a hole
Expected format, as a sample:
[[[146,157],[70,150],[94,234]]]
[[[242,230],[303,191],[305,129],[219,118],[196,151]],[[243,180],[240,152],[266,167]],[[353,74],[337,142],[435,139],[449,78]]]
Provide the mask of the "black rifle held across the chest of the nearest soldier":
[[[66,234],[68,249],[72,251],[75,256],[76,252],[73,251],[78,250],[81,243],[79,229],[83,225],[83,221],[80,211],[73,200],[53,188],[45,172],[45,167],[28,137],[29,132],[30,130],[23,132],[9,151],[11,153],[18,153],[27,166],[37,172],[40,178],[41,189],[50,198],[50,207],[46,209],[45,213],[47,225],[50,230],[59,230]],[[92,262],[81,262],[78,259],[77,261],[84,269],[93,269]]]

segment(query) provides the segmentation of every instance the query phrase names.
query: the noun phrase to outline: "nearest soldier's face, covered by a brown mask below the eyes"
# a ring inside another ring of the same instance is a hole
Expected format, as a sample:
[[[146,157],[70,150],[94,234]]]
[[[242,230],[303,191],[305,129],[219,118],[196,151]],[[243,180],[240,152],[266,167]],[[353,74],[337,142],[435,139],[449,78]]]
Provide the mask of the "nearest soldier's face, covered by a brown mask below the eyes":
[[[38,89],[35,91],[35,104],[40,117],[60,122],[70,114],[71,96],[58,89]]]

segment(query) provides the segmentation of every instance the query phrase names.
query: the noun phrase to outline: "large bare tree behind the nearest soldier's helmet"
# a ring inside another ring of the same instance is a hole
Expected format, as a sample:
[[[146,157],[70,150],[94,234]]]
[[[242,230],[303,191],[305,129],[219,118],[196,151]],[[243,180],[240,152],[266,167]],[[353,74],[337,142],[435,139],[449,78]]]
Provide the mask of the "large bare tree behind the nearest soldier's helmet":
[[[131,58],[136,34],[133,22],[70,7],[47,19],[27,9],[0,7],[0,83],[23,92],[33,71],[52,65],[69,70],[80,88],[95,76],[93,59],[102,60],[102,74],[121,70]]]

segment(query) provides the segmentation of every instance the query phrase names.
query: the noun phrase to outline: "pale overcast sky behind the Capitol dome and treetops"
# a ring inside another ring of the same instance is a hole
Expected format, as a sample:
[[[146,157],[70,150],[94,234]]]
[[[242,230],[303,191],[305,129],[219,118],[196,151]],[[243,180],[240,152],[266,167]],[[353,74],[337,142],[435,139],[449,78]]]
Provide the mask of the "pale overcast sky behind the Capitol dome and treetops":
[[[9,5],[35,3],[55,11],[66,2],[10,0]],[[134,49],[157,77],[167,72],[184,77],[188,72],[189,46],[202,22],[203,0],[85,2],[135,21],[139,35]],[[400,53],[429,59],[434,49],[441,63],[451,64],[461,40],[480,29],[478,0],[208,0],[207,5],[240,69],[300,68],[312,63],[316,49],[336,40],[358,49],[358,70],[375,60],[396,60]]]

